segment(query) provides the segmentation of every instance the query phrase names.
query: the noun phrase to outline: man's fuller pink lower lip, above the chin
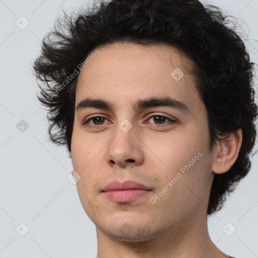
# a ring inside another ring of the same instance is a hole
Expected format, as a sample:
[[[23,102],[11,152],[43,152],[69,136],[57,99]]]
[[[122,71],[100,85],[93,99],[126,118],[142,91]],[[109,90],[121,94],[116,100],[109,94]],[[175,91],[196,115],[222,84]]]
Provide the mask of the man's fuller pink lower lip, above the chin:
[[[143,189],[130,189],[130,190],[112,190],[105,191],[105,196],[115,202],[132,202],[140,197],[147,195],[150,192]]]

